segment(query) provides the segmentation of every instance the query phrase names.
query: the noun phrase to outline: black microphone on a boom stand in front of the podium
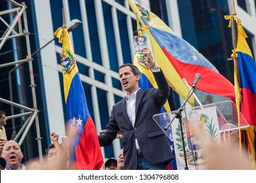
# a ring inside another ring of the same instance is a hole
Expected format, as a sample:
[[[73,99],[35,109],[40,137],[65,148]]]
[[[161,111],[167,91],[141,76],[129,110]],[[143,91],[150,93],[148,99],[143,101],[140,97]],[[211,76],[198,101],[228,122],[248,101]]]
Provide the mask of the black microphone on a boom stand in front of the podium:
[[[173,122],[173,120],[175,118],[179,119],[179,124],[181,127],[181,139],[182,139],[182,147],[183,147],[183,153],[184,153],[184,161],[185,161],[185,170],[188,170],[188,162],[186,161],[186,149],[185,149],[185,143],[184,143],[184,134],[183,134],[183,129],[182,129],[182,110],[184,110],[184,106],[186,105],[186,102],[188,101],[188,99],[190,99],[190,97],[193,95],[193,93],[196,92],[196,85],[193,85],[188,97],[186,97],[186,100],[184,101],[184,103],[182,104],[182,106],[177,110],[177,112],[175,112],[175,115],[173,116],[173,118],[171,119],[171,121],[165,125],[165,131],[170,127],[171,123]]]

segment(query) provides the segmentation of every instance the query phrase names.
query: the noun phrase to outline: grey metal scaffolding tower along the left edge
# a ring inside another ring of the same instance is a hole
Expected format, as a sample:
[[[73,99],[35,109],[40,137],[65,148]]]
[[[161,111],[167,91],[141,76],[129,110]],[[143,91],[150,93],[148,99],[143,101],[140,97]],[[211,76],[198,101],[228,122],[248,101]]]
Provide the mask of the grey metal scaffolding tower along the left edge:
[[[34,76],[33,76],[33,65],[32,65],[32,54],[30,50],[30,37],[29,37],[29,32],[28,32],[28,20],[26,16],[26,5],[25,3],[16,3],[13,0],[7,0],[12,3],[12,5],[15,6],[15,8],[9,9],[9,10],[3,10],[0,12],[0,21],[3,22],[3,24],[7,25],[7,29],[3,36],[0,38],[0,50],[3,48],[3,45],[8,39],[13,39],[16,37],[25,37],[26,39],[26,48],[27,48],[27,56],[25,59],[20,59],[18,61],[7,61],[7,63],[1,64],[0,68],[3,67],[9,67],[12,65],[16,64],[22,64],[22,63],[28,63],[29,65],[29,72],[30,72],[30,86],[32,88],[32,99],[33,99],[33,108],[26,107],[24,105],[20,105],[18,103],[14,103],[13,101],[9,101],[7,99],[0,98],[0,102],[7,103],[11,105],[12,107],[12,112],[13,112],[13,107],[18,107],[22,108],[23,110],[26,110],[27,112],[23,112],[21,114],[15,114],[12,116],[8,116],[9,119],[14,119],[14,118],[20,118],[22,116],[29,116],[28,119],[26,120],[25,124],[22,125],[22,128],[20,131],[18,131],[18,134],[14,138],[14,141],[17,141],[18,144],[22,144],[24,141],[26,135],[28,134],[28,131],[35,121],[35,128],[36,128],[36,134],[37,134],[37,144],[38,144],[38,152],[39,152],[39,159],[43,161],[43,153],[42,153],[42,147],[41,147],[41,135],[40,135],[40,128],[39,128],[39,119],[38,119],[38,112],[37,110],[37,100],[36,100],[36,93],[35,93],[35,82],[34,82]],[[2,15],[5,14],[11,14],[16,12],[16,16],[12,20],[11,24],[9,25],[3,18],[1,18]],[[22,30],[22,19],[23,19],[23,25],[24,25],[24,30]],[[18,33],[14,30],[14,28],[18,25]],[[14,35],[11,35],[11,33],[14,33]],[[12,99],[11,99],[12,100]],[[20,140],[18,141],[18,139]]]

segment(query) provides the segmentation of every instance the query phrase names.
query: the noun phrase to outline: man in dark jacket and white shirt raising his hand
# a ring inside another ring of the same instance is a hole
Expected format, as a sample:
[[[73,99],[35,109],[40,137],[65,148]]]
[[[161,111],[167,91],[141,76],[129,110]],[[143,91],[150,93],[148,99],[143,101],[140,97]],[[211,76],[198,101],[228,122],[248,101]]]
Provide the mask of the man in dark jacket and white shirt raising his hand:
[[[127,95],[113,106],[106,131],[98,135],[98,140],[100,146],[108,146],[121,131],[125,169],[166,169],[166,164],[173,160],[171,148],[152,116],[160,113],[161,106],[167,101],[169,85],[150,50],[143,48],[142,52],[158,89],[140,89],[139,69],[129,63],[121,65],[119,80]]]

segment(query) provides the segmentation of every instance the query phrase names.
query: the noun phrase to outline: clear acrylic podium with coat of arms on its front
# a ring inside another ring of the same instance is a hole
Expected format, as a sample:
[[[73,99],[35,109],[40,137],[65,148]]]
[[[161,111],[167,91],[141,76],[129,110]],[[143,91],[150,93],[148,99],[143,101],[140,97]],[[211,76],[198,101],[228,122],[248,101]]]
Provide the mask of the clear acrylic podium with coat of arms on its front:
[[[184,169],[186,166],[186,169],[204,169],[207,159],[203,158],[202,140],[233,143],[234,138],[237,140],[239,138],[238,130],[249,127],[241,113],[240,121],[238,120],[236,105],[232,101],[185,108],[181,112],[182,122],[175,118],[175,114],[177,110],[156,114],[153,119],[167,138],[173,141],[177,169]],[[182,124],[182,130],[180,124]],[[182,141],[184,141],[185,151]]]

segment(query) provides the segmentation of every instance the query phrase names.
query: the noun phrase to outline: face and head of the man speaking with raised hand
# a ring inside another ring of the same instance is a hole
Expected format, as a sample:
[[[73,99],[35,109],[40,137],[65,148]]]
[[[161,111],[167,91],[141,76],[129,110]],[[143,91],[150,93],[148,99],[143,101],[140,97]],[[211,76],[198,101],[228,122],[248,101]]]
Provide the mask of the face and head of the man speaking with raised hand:
[[[140,75],[134,75],[131,67],[125,66],[119,69],[119,80],[128,95],[139,88]]]

